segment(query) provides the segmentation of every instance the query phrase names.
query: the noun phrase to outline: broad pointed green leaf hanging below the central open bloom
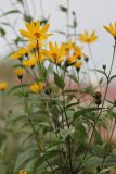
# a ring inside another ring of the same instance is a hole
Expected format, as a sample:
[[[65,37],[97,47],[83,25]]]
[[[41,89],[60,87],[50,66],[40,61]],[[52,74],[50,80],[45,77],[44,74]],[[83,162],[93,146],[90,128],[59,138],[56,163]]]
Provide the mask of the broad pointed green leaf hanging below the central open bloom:
[[[54,72],[54,82],[56,84],[57,87],[60,87],[61,89],[63,89],[65,87],[65,83],[63,77],[59,76],[55,72]]]

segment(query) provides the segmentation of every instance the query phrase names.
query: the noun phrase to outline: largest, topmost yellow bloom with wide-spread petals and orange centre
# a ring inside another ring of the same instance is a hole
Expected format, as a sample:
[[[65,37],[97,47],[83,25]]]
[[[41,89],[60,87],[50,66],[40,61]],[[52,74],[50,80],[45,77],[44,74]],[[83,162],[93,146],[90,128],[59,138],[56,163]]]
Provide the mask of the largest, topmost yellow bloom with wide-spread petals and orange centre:
[[[40,21],[26,23],[26,30],[21,29],[21,35],[28,38],[29,40],[46,40],[51,34],[48,34],[50,24],[44,26],[40,25]]]

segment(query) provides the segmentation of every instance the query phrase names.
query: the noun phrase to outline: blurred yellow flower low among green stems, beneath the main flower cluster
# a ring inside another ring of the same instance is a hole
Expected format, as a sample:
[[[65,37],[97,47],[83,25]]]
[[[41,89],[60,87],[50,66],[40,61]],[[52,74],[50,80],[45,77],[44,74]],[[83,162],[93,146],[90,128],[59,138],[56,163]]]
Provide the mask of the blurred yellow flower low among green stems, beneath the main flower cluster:
[[[43,89],[43,83],[34,83],[30,85],[29,90],[38,94]]]

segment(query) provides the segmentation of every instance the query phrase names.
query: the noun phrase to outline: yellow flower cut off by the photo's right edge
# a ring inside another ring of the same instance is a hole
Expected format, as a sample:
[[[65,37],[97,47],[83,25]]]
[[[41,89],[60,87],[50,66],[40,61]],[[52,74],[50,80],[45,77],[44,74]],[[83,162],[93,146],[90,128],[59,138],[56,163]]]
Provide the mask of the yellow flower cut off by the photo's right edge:
[[[104,28],[116,39],[116,22],[109,23],[109,26],[104,26]]]

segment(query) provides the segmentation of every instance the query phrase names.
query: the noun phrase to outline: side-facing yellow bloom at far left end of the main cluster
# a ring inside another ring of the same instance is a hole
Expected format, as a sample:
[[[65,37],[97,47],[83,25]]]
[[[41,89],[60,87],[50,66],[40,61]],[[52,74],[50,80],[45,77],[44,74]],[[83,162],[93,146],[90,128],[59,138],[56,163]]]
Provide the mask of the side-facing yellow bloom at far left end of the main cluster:
[[[30,51],[29,48],[21,47],[16,52],[11,54],[11,59],[13,60],[22,60],[24,55],[28,54]]]

